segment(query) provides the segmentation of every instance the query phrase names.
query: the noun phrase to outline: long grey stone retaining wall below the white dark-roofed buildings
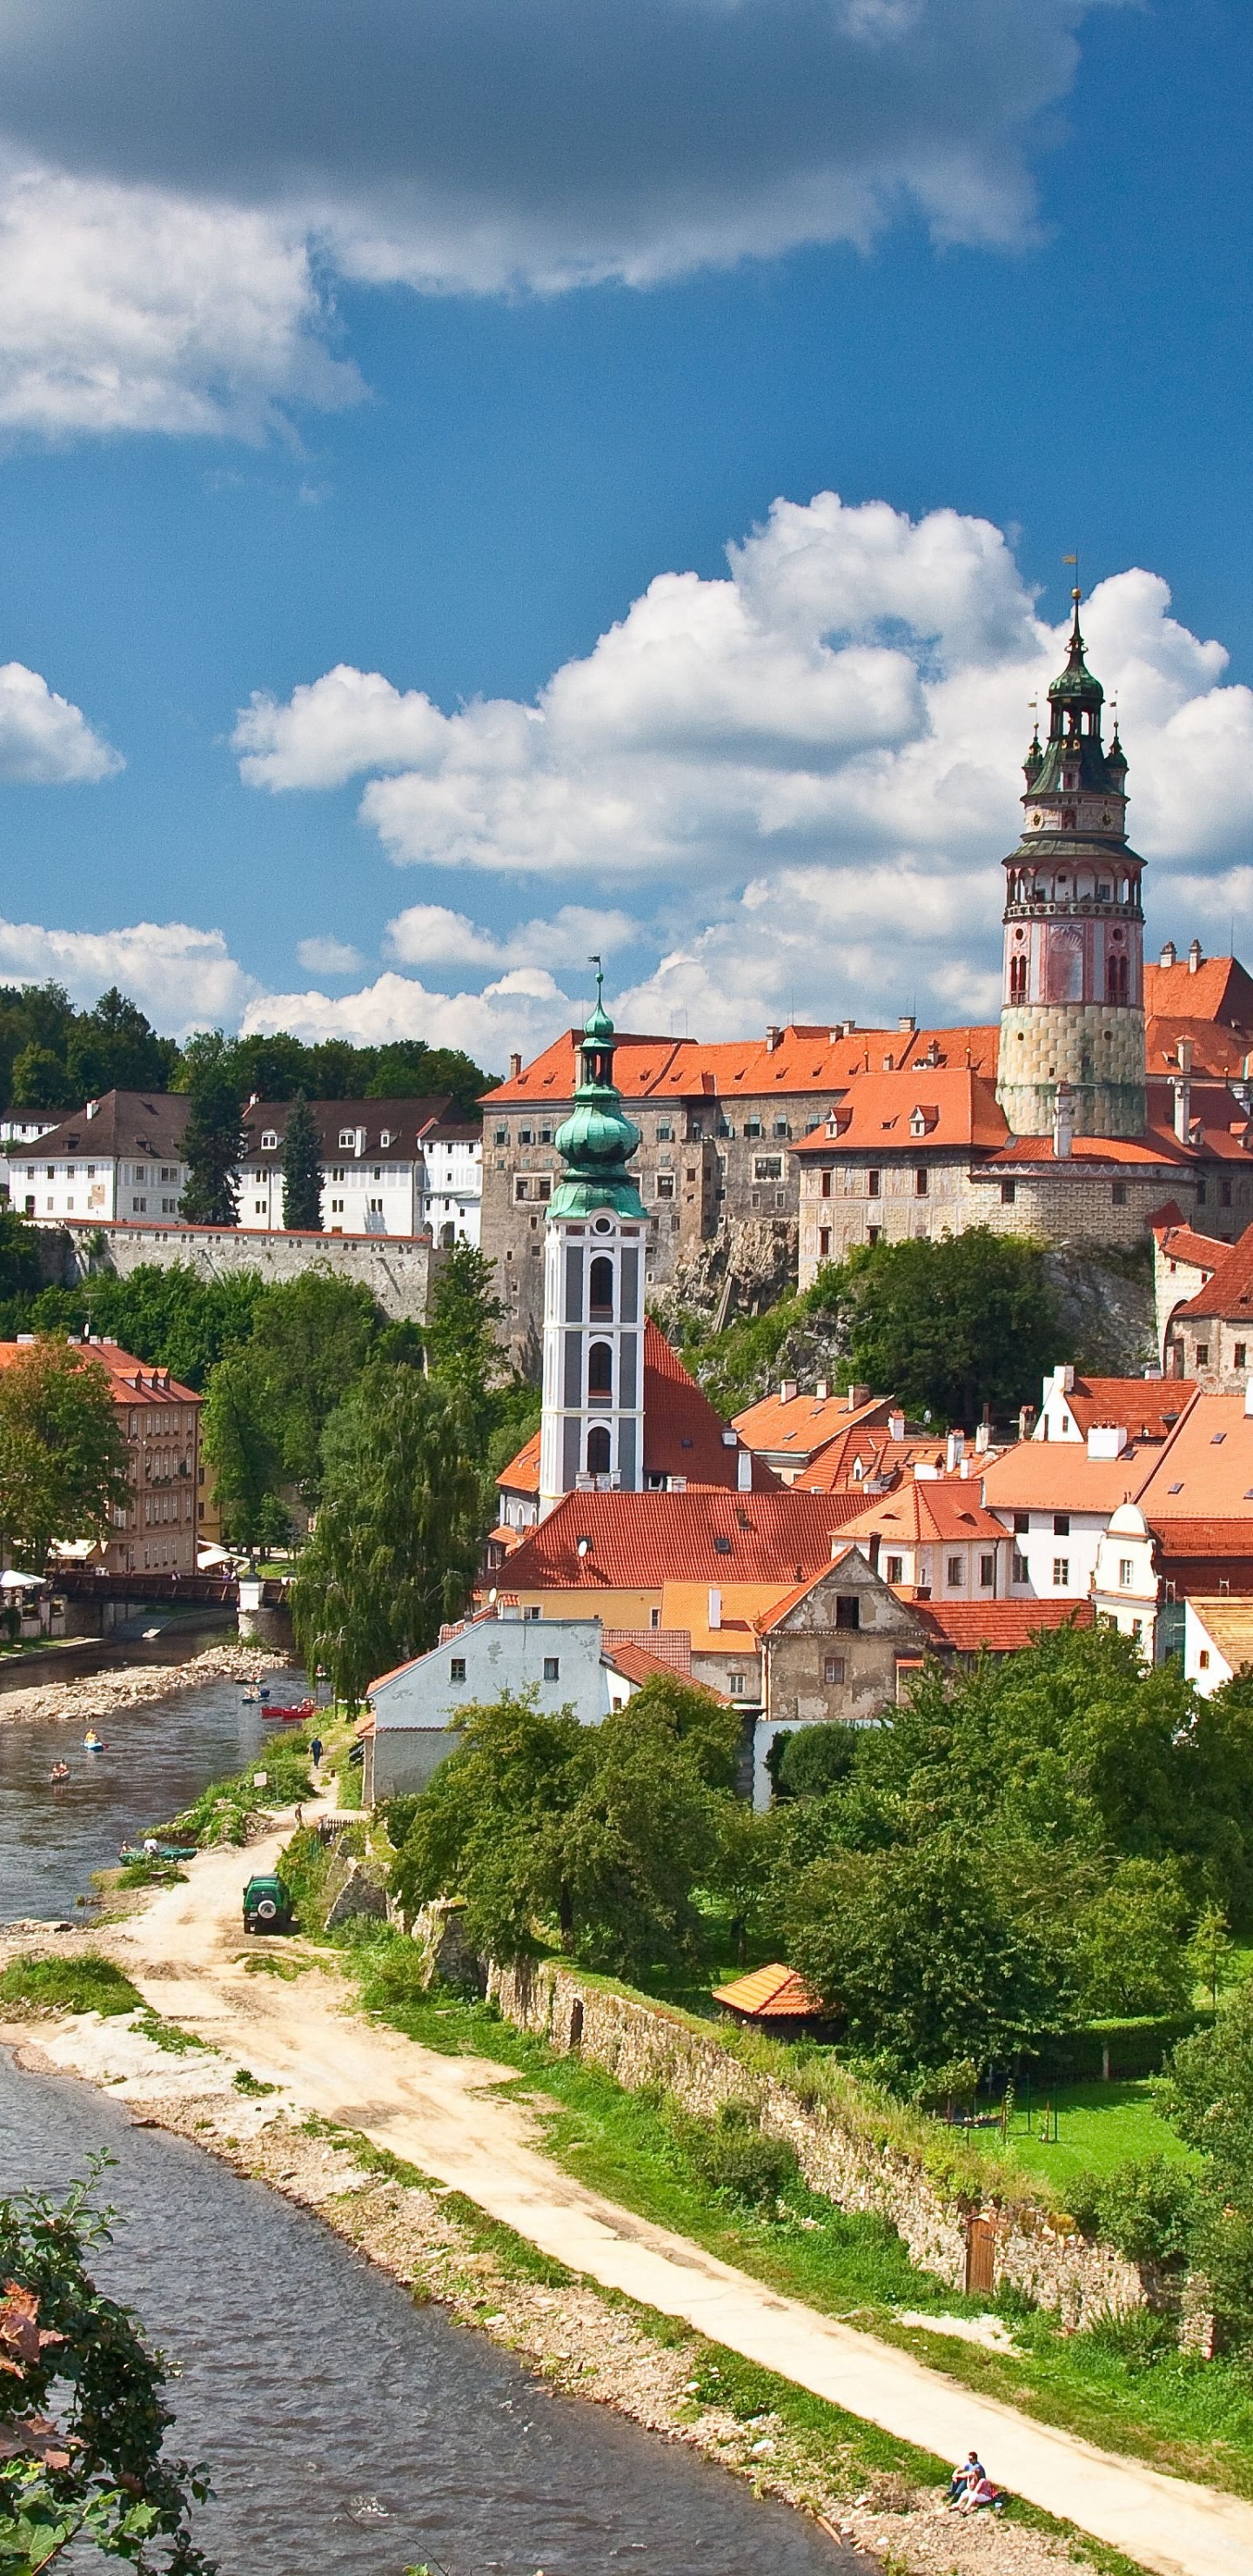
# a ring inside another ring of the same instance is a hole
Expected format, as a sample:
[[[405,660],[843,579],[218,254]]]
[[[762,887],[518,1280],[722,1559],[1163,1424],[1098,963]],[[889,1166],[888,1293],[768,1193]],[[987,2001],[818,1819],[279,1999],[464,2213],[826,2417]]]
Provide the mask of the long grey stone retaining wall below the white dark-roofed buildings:
[[[62,1226],[46,1229],[46,1273],[72,1288],[98,1273],[129,1278],[147,1262],[186,1262],[196,1278],[260,1270],[268,1285],[335,1270],[358,1280],[387,1316],[420,1324],[443,1252],[428,1234],[245,1234],[237,1226]],[[41,1244],[41,1249],[44,1249]]]

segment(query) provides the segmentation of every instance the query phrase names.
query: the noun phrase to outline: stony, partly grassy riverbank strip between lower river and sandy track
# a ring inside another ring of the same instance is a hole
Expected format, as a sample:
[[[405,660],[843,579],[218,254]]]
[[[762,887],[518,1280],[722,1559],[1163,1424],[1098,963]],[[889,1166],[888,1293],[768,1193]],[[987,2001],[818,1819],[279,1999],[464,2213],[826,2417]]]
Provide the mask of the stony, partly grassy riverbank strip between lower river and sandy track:
[[[57,1945],[70,1955],[70,1942]],[[286,1965],[286,1963],[281,1963]],[[273,1973],[273,1971],[271,1971]],[[271,1976],[258,1978],[271,1986]],[[936,2463],[838,2406],[786,2391],[688,2326],[606,2295],[361,2133],[302,2115],[237,2053],[160,2045],[147,2017],[75,2014],[0,2025],[28,2071],[108,2089],[131,2120],[188,2138],[317,2215],[369,2262],[438,2300],[459,2326],[518,2354],[554,2393],[608,2406],[820,2522],[897,2576],[1060,2576],[1127,2568],[1024,2522],[964,2522],[938,2501]],[[242,2076],[242,2087],[240,2087]],[[804,2398],[807,2424],[789,2398]]]

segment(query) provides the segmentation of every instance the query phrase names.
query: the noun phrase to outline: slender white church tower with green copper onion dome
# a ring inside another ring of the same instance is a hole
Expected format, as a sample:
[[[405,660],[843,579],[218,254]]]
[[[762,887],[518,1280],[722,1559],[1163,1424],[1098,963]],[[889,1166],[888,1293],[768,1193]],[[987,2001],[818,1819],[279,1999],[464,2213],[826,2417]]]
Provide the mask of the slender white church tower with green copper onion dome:
[[[539,1510],[575,1486],[645,1484],[645,1234],[626,1170],[639,1128],[614,1084],[614,1023],[601,999],[583,1030],[575,1108],[557,1128],[565,1177],[544,1244],[544,1417]]]

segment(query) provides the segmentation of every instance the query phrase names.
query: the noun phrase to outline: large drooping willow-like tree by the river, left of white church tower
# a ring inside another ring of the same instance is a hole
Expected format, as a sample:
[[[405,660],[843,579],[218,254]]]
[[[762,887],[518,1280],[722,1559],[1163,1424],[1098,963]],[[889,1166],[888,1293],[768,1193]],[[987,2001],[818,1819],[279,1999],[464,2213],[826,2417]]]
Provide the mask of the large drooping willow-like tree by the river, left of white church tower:
[[[291,1587],[296,1643],[338,1700],[436,1643],[474,1582],[482,1481],[459,1406],[415,1368],[369,1365],[327,1432],[315,1535]]]

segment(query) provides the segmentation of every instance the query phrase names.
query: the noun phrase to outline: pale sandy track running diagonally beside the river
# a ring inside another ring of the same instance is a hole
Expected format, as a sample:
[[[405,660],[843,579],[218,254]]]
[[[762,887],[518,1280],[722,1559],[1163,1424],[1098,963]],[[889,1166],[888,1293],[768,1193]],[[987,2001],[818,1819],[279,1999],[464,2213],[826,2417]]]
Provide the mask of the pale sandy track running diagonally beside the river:
[[[201,1855],[186,1886],[160,1893],[108,1935],[155,2009],[289,2087],[302,2110],[358,2128],[467,2192],[575,2272],[686,2318],[712,2342],[941,2458],[964,2458],[975,2442],[1008,2488],[1160,2576],[1248,2576],[1253,2504],[972,2396],[910,2354],[776,2295],[704,2246],[588,2192],[539,2154],[526,2099],[498,2063],[443,2058],[366,2022],[333,1971],[317,1968],[291,1984],[248,1976],[240,1888],[248,1868],[273,1868],[281,1839],[255,1844],[248,1857],[235,1850]]]

